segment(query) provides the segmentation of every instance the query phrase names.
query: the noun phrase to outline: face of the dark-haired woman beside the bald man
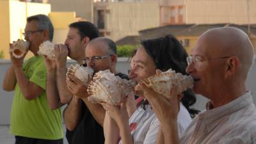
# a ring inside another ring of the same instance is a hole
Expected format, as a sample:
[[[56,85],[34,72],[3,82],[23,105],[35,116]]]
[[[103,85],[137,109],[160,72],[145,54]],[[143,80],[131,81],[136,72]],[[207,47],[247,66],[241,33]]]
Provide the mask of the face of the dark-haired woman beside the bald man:
[[[131,72],[129,77],[137,83],[142,79],[156,74],[156,66],[152,58],[147,54],[144,47],[140,47],[131,60]]]

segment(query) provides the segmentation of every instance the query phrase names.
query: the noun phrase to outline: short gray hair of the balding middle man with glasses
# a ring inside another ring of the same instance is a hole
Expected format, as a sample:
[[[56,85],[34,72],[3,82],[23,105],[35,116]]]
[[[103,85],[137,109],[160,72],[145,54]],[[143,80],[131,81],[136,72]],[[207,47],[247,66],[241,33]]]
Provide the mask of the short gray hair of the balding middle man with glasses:
[[[97,41],[105,42],[108,45],[108,54],[117,54],[116,44],[115,42],[113,42],[113,40],[106,37],[99,37],[99,38],[94,38],[93,40],[90,41],[90,43],[92,44],[93,42],[97,42]]]

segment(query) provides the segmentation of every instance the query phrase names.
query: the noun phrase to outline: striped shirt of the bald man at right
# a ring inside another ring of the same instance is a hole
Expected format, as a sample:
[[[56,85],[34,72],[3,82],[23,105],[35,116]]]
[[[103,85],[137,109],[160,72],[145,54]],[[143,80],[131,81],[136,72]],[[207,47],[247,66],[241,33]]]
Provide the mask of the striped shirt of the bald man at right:
[[[250,92],[219,108],[207,109],[189,124],[182,144],[256,143],[256,109]]]

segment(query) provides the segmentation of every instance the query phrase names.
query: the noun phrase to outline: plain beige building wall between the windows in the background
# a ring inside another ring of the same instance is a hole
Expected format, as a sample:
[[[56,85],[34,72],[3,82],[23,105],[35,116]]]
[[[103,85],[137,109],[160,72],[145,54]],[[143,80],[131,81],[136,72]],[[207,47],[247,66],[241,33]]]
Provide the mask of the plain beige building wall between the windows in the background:
[[[95,10],[98,10],[97,5]],[[95,15],[96,13],[97,11]],[[138,35],[141,29],[157,26],[159,26],[157,1],[113,2],[108,3],[106,7],[105,30],[110,32],[110,35],[106,36],[114,41],[127,35]]]

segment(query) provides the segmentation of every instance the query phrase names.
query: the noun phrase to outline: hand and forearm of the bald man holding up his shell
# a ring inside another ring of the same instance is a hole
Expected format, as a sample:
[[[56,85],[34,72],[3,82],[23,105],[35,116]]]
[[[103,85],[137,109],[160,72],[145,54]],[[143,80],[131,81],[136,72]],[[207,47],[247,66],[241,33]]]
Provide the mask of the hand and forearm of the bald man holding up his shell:
[[[162,124],[177,120],[182,95],[172,96],[170,99],[166,99],[151,88],[148,88],[143,81],[137,84],[135,90],[144,92],[144,97],[148,100]],[[170,94],[175,93],[175,90],[177,90],[177,88],[173,87]]]

